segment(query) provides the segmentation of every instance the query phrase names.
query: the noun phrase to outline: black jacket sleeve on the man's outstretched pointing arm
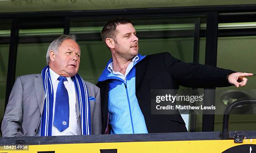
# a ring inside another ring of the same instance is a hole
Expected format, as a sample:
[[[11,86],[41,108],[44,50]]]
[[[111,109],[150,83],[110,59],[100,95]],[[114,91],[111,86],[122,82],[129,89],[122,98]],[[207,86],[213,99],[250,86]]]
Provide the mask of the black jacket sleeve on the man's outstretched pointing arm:
[[[186,87],[206,88],[232,86],[228,82],[229,69],[221,69],[210,65],[185,63],[175,59],[168,52],[164,53],[163,61],[166,70],[181,85]]]

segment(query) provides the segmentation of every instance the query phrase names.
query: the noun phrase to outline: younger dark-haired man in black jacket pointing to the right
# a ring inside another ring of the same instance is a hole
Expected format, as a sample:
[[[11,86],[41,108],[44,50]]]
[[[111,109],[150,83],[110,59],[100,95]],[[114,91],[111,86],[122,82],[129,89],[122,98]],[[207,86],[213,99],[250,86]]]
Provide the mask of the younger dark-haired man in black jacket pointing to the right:
[[[209,65],[184,63],[169,53],[138,54],[136,30],[128,19],[117,19],[103,27],[103,42],[112,59],[100,76],[102,133],[186,132],[180,116],[151,114],[151,89],[222,87],[246,85],[244,76]],[[110,131],[109,131],[110,130]]]

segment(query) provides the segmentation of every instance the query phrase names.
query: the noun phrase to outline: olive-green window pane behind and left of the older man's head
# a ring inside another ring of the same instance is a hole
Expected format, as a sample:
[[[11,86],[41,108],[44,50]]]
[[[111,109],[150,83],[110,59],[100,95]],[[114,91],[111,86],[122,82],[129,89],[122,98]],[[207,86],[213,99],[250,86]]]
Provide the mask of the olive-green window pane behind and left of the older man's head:
[[[39,74],[46,66],[49,44],[63,35],[63,28],[21,29],[17,49],[15,76]]]

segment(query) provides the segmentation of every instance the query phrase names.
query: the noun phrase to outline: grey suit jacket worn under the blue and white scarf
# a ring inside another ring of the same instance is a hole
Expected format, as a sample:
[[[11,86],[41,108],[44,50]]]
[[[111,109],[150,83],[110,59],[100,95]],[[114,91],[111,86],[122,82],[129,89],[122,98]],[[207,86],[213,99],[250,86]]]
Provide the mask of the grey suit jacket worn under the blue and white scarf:
[[[101,134],[100,89],[90,82],[85,81],[85,84],[89,96],[96,99],[90,101],[92,134]],[[3,117],[1,126],[3,137],[38,136],[38,127],[44,109],[44,96],[41,74],[17,77]],[[80,125],[78,102],[76,110],[78,125]]]

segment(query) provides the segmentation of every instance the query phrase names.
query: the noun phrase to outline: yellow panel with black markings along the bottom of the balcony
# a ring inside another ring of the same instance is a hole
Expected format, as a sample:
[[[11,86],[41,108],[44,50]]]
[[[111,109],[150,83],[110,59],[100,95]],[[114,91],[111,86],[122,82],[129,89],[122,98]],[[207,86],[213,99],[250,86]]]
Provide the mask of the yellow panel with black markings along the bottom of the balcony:
[[[246,139],[243,140],[243,143],[234,143],[234,140],[203,140],[31,145],[28,151],[4,152],[37,153],[37,151],[55,151],[55,153],[100,153],[100,149],[117,149],[118,153],[221,153],[233,146],[244,144],[255,145],[256,139]]]

